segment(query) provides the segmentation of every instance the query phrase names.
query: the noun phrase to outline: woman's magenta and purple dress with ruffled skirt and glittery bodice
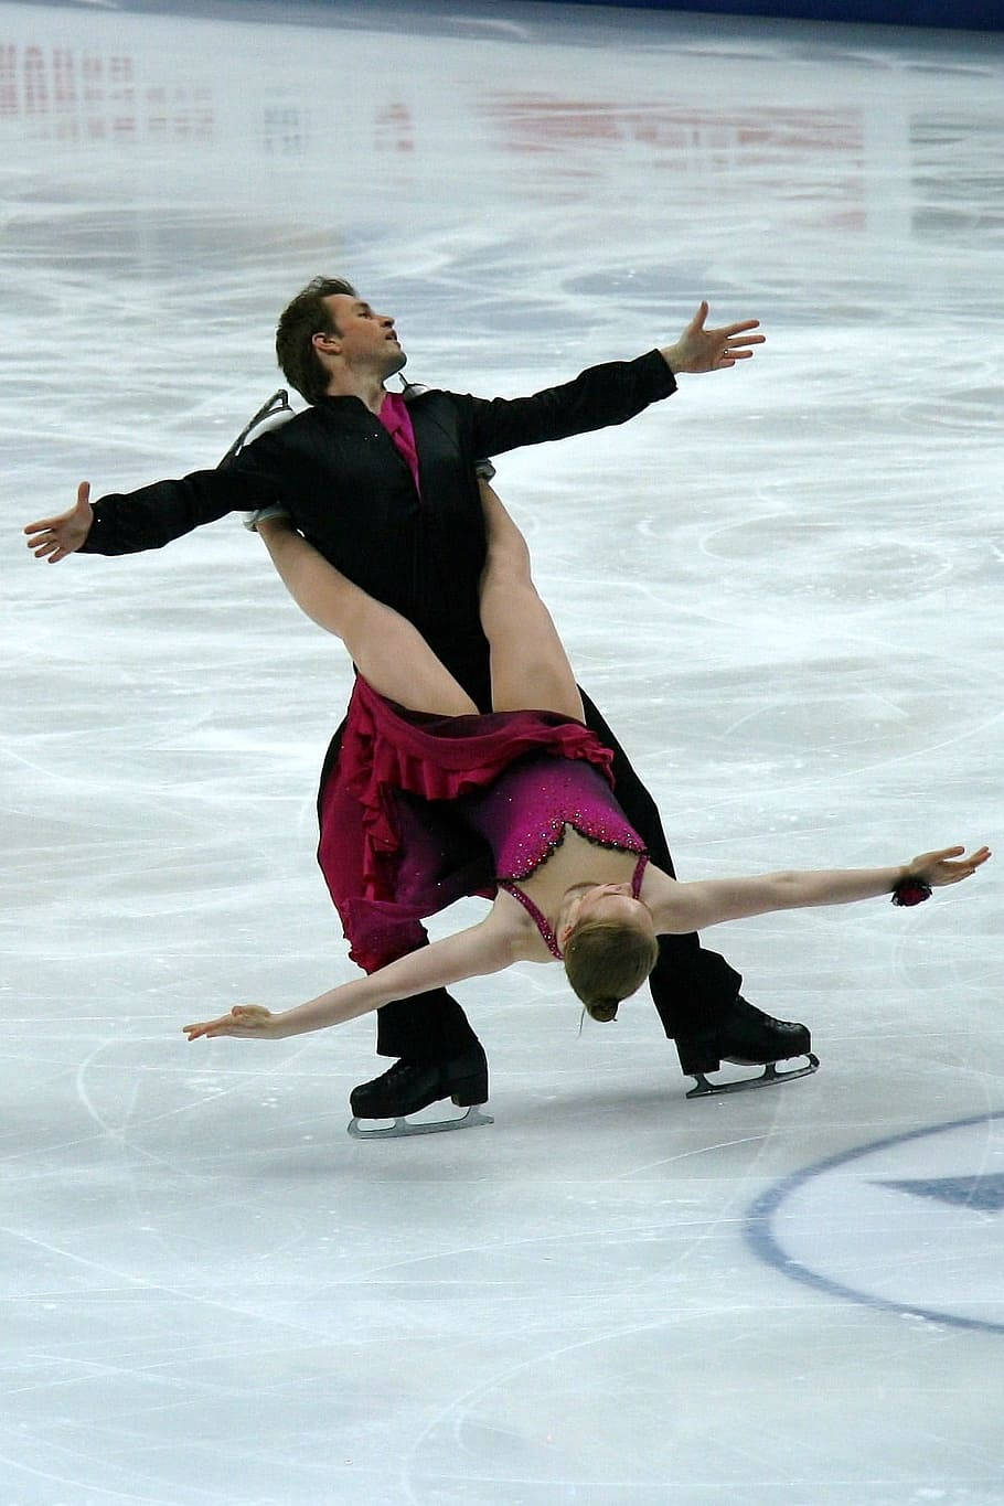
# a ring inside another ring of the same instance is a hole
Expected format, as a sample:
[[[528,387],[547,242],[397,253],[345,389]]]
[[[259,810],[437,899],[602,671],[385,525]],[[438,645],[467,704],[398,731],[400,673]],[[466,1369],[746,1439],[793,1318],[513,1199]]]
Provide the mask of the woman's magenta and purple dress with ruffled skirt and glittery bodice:
[[[357,679],[318,804],[318,860],[352,959],[373,971],[412,952],[426,940],[423,919],[527,878],[566,822],[641,854],[613,795],[611,759],[589,727],[557,712],[435,717]]]

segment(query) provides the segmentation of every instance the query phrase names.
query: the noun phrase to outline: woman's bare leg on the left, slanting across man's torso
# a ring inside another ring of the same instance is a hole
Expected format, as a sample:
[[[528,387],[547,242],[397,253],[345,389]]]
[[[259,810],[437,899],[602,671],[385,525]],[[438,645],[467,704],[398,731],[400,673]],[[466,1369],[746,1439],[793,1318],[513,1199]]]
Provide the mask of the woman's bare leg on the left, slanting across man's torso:
[[[373,690],[409,711],[464,717],[477,706],[418,630],[369,596],[297,533],[289,518],[257,524],[289,595],[319,626],[342,639]]]

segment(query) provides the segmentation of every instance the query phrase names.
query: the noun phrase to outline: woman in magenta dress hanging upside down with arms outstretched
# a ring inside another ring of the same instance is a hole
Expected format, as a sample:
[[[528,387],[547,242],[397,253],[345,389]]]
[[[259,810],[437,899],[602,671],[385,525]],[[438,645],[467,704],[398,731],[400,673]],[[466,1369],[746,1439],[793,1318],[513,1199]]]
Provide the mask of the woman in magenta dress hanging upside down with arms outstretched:
[[[969,855],[953,846],[890,867],[698,883],[653,867],[610,788],[610,755],[583,723],[522,535],[485,482],[482,501],[488,715],[406,619],[346,580],[288,520],[259,523],[294,598],[345,642],[358,670],[324,795],[321,861],[351,955],[369,976],[278,1014],[236,1006],[185,1026],[190,1041],[283,1039],[512,962],[555,959],[589,1014],[613,1020],[650,973],[659,934],[878,895],[915,904],[990,857],[986,846]],[[494,893],[488,916],[408,950],[417,919],[464,893]],[[465,1104],[462,1089],[455,1102]]]

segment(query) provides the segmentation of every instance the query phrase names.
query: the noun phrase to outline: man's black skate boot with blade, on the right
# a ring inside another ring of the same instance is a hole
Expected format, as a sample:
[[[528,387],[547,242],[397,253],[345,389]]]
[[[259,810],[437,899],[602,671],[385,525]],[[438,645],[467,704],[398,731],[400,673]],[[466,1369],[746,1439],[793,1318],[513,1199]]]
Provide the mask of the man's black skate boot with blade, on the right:
[[[688,1098],[741,1093],[751,1087],[771,1087],[790,1077],[808,1077],[819,1066],[819,1057],[810,1050],[811,1044],[805,1026],[790,1020],[774,1020],[747,1003],[742,994],[736,994],[727,1014],[707,1030],[676,1038],[680,1068],[688,1077],[697,1078],[697,1087],[691,1087]],[[804,1056],[805,1066],[778,1072],[777,1063],[795,1056]],[[738,1083],[709,1083],[707,1072],[716,1072],[723,1062],[763,1066],[763,1072],[759,1077],[744,1077]]]

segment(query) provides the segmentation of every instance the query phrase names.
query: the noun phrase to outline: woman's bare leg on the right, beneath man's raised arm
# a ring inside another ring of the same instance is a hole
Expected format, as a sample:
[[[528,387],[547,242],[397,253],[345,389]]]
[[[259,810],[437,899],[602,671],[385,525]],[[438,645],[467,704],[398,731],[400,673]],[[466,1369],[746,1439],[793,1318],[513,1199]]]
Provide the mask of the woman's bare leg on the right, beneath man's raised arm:
[[[482,628],[491,649],[492,706],[560,711],[584,721],[572,666],[530,575],[527,542],[488,482],[479,485],[488,536]]]

